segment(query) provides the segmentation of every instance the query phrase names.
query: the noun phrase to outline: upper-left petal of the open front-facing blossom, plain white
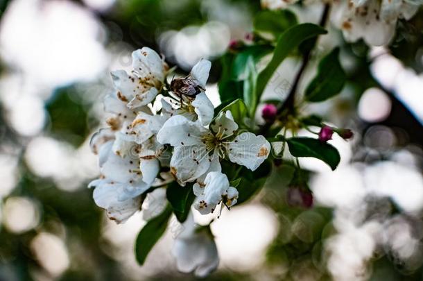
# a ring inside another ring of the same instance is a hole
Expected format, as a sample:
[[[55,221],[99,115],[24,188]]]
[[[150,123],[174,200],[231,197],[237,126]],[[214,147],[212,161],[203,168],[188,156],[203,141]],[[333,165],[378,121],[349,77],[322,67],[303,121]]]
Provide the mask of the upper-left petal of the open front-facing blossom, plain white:
[[[171,144],[171,146],[190,146],[201,144],[202,137],[207,134],[209,134],[209,130],[197,122],[177,115],[164,123],[162,129],[157,133],[157,141],[160,144]]]

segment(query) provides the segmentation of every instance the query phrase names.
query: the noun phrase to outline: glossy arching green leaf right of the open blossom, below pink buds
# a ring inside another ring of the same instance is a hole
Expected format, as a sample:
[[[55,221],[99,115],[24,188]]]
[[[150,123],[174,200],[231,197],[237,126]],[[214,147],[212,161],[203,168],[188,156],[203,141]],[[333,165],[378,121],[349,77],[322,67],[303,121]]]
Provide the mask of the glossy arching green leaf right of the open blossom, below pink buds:
[[[340,155],[334,146],[311,137],[291,137],[286,139],[289,152],[295,157],[314,157],[328,164],[332,170],[338,167]]]

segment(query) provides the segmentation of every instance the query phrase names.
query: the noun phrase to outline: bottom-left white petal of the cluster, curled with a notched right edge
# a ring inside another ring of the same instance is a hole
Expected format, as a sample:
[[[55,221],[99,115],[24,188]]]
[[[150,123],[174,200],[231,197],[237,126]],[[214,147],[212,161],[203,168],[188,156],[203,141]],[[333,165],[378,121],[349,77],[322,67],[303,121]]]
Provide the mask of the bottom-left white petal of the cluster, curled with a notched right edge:
[[[130,198],[120,201],[119,195],[123,191],[123,185],[110,182],[110,180],[96,180],[90,184],[95,186],[93,198],[98,207],[107,210],[109,219],[116,223],[124,223],[135,214],[141,207],[141,198]]]

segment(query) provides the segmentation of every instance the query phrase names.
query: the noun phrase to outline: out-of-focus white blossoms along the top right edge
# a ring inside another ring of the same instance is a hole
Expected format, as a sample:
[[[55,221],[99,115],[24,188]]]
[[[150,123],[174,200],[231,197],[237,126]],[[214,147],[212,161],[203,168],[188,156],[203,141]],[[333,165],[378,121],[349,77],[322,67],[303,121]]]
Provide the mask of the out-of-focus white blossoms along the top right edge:
[[[388,44],[395,35],[398,19],[411,19],[423,1],[404,0],[309,0],[332,3],[331,21],[343,31],[347,41],[363,39],[373,46]],[[297,0],[261,0],[264,8],[282,9]]]

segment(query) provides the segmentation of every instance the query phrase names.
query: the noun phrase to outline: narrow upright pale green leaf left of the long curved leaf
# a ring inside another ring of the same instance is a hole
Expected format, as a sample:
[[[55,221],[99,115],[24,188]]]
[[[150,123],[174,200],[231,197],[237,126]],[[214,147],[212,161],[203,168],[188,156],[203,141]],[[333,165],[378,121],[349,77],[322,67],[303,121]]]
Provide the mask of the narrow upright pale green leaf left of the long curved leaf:
[[[254,65],[254,60],[249,57],[247,60],[247,67],[245,69],[245,80],[244,80],[244,102],[247,108],[250,110],[248,113],[250,116],[254,116],[257,108],[257,96],[255,93],[257,85],[257,69]]]

